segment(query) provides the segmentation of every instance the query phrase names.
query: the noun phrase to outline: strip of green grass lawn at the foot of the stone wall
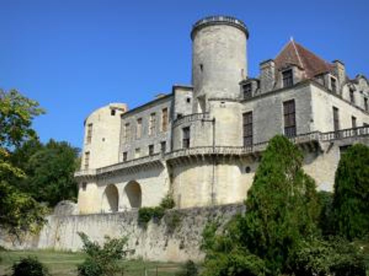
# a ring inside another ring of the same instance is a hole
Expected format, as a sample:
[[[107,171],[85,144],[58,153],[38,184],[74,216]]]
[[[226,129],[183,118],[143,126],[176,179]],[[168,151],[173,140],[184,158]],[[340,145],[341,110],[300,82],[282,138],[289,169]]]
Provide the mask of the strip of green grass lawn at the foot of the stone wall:
[[[77,264],[82,263],[83,253],[62,251],[0,251],[0,275],[11,275],[11,266],[22,257],[36,256],[44,263],[53,276],[76,276]],[[180,269],[178,263],[144,262],[142,260],[122,261],[124,276],[170,276]]]

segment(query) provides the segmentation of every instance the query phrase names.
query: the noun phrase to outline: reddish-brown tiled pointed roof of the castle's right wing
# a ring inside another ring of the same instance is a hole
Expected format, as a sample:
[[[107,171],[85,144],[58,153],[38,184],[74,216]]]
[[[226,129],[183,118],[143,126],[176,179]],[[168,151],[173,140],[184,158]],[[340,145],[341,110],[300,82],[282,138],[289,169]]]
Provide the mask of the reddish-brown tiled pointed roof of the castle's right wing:
[[[318,74],[334,70],[333,64],[321,59],[292,39],[284,46],[274,61],[276,72],[293,64],[305,71],[305,78],[313,78]]]

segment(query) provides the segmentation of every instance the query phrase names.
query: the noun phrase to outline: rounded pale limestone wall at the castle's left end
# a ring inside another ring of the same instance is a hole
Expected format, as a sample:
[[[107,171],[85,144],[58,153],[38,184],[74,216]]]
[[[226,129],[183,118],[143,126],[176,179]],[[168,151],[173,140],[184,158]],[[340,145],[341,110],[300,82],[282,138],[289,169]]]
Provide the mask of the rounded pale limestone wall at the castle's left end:
[[[115,115],[111,114],[115,110]],[[111,103],[95,110],[85,121],[85,137],[81,169],[85,169],[86,152],[90,153],[88,169],[96,169],[118,162],[120,115],[127,111],[124,103]],[[92,139],[87,142],[88,125],[92,124]]]

